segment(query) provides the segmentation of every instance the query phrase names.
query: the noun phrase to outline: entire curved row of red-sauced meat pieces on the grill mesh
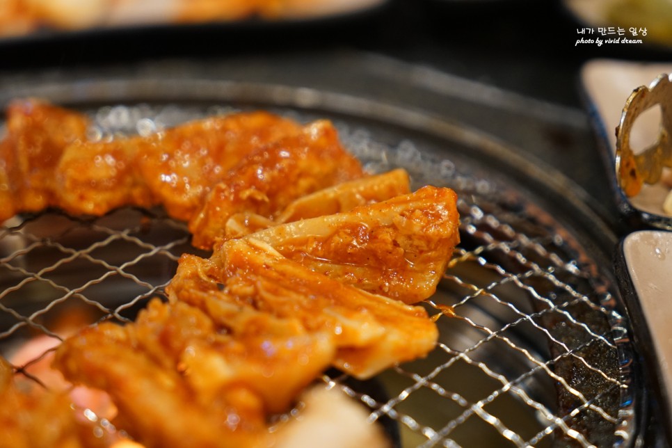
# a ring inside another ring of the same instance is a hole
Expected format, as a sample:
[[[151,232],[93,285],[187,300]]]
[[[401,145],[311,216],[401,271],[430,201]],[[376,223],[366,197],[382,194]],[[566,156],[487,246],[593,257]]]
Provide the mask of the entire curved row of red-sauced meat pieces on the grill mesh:
[[[451,189],[411,193],[403,169],[365,173],[326,120],[237,113],[96,142],[89,126],[42,102],[8,109],[0,218],[162,205],[213,250],[180,257],[167,302],[56,349],[54,368],[104,391],[134,440],[292,446],[301,435],[269,431],[270,419],[328,367],[371,378],[434,349],[438,329],[414,304],[434,293],[459,242]]]

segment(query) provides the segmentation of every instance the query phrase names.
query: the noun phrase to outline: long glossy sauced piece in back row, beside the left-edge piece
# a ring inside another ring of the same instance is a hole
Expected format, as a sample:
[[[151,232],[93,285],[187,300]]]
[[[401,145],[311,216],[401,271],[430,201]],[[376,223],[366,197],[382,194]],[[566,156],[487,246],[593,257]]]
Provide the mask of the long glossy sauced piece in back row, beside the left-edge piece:
[[[173,218],[189,221],[232,166],[300,130],[291,120],[259,111],[196,120],[151,136],[72,145],[58,166],[62,207],[99,215],[122,205],[161,204]]]

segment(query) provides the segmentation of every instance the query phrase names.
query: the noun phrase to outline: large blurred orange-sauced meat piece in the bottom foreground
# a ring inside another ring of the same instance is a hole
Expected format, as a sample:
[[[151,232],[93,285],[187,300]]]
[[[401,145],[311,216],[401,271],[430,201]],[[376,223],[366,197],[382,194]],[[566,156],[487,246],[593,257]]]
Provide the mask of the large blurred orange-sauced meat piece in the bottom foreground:
[[[252,328],[239,317],[220,316],[230,322],[221,326],[197,307],[155,299],[134,323],[101,323],[66,339],[54,365],[72,383],[108,392],[118,427],[147,447],[186,436],[198,447],[266,446],[267,415],[287,410],[334,346],[291,321],[257,313]]]

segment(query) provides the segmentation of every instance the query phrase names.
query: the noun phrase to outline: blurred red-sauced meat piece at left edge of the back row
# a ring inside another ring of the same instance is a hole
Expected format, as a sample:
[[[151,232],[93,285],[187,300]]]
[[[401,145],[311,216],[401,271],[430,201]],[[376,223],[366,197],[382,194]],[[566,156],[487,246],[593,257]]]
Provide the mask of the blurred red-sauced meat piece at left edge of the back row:
[[[86,115],[36,99],[11,102],[0,142],[0,222],[19,211],[58,206],[56,166],[63,150],[84,140]]]

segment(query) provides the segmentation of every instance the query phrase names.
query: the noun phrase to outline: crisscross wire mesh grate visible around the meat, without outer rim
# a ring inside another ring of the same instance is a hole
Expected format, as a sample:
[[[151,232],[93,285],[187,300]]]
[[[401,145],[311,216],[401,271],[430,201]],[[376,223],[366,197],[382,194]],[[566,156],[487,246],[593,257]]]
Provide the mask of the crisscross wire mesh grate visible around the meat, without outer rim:
[[[368,168],[403,166],[417,184],[455,189],[463,242],[426,302],[441,333],[428,358],[379,375],[385,394],[331,371],[323,381],[361,401],[371,421],[394,422],[403,446],[613,445],[626,387],[618,314],[591,261],[544,211],[460,175],[451,161],[341,131]],[[179,255],[196,253],[189,241],[161,210],[13,218],[0,229],[1,354],[36,335],[58,340],[56,326],[73,309],[90,322],[133,319],[163,294]]]

